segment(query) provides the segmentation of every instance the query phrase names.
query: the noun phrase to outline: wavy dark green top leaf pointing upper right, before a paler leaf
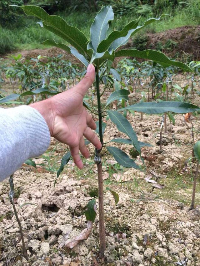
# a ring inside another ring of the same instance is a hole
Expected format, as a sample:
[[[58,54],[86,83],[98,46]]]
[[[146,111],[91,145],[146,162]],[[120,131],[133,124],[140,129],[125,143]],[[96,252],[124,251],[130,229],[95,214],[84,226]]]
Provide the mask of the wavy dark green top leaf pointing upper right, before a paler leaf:
[[[138,19],[135,19],[129,22],[121,31],[111,32],[106,40],[103,40],[99,43],[97,52],[100,53],[100,52],[108,50],[112,42],[114,42],[116,39],[120,37],[125,37],[128,34],[129,30],[135,29],[138,26],[139,20],[140,20],[140,17]]]

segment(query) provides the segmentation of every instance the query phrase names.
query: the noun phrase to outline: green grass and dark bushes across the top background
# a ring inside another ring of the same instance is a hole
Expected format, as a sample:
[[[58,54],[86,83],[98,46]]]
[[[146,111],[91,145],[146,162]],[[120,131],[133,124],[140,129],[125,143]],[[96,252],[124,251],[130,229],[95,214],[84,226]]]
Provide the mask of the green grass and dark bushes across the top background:
[[[87,36],[89,27],[96,12],[102,5],[112,5],[117,19],[114,27],[121,29],[130,17],[141,16],[141,23],[148,17],[158,17],[161,13],[171,16],[165,17],[159,23],[149,25],[148,32],[161,32],[167,29],[185,25],[200,24],[200,2],[198,0],[2,0],[0,2],[0,54],[12,52],[16,49],[42,48],[42,41],[58,37],[45,30],[38,31],[39,25],[35,18],[28,18],[19,8],[9,5],[34,4],[44,8],[48,13],[65,18],[70,25],[76,26]],[[123,23],[122,23],[123,22]]]

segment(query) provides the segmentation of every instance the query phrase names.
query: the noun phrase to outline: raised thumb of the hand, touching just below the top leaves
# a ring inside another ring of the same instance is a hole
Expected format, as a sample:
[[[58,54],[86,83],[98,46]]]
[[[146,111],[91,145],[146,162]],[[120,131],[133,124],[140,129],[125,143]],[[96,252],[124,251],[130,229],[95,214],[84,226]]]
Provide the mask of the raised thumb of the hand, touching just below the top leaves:
[[[92,64],[88,65],[86,75],[84,78],[74,87],[78,93],[83,97],[88,91],[89,87],[93,84],[95,79],[95,67]]]

